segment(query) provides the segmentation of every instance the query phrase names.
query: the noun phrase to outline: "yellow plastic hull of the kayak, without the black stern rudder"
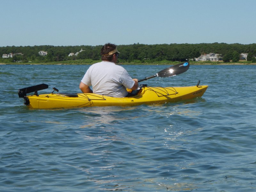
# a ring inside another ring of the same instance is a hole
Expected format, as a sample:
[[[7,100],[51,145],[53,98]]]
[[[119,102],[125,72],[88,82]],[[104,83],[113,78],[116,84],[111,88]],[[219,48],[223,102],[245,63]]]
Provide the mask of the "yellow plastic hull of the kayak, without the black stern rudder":
[[[50,93],[40,95],[26,95],[25,104],[29,108],[79,108],[105,106],[134,106],[180,102],[201,97],[207,85],[189,87],[143,87],[132,97],[114,98],[94,93]]]

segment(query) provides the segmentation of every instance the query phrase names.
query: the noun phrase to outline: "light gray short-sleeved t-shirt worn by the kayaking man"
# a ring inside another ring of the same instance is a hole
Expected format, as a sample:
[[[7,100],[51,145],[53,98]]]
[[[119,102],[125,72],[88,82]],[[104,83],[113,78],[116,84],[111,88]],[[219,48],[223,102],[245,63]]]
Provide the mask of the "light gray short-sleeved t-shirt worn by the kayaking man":
[[[125,97],[126,88],[131,89],[135,83],[123,67],[108,61],[90,66],[81,81],[92,86],[93,93],[111,97]]]

